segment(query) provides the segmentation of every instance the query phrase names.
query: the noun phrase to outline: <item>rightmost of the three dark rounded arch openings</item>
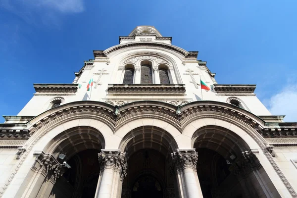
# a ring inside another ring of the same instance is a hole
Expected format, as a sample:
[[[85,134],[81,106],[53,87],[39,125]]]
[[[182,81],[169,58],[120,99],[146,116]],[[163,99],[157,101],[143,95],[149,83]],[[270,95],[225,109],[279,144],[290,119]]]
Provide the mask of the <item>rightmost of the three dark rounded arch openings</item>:
[[[270,178],[247,142],[235,132],[204,126],[193,134],[192,144],[198,152],[197,174],[203,197],[259,198],[275,191],[274,186],[267,190]]]

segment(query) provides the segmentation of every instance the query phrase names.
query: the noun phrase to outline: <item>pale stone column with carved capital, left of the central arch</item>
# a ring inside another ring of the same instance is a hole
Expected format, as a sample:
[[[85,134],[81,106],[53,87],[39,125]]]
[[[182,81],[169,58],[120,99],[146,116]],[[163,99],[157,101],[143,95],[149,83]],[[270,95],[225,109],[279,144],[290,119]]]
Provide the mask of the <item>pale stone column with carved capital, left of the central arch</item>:
[[[124,153],[120,150],[101,149],[98,154],[99,163],[103,165],[102,178],[100,179],[99,189],[96,198],[116,198],[121,192],[121,177],[126,176],[127,160]]]

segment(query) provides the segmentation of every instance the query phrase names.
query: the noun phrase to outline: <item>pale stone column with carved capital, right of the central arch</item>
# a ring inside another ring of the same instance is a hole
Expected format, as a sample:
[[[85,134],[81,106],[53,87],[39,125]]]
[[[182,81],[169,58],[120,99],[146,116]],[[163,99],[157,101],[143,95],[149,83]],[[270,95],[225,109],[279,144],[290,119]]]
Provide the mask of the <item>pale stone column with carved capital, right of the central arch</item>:
[[[195,171],[198,161],[198,153],[195,149],[177,149],[172,153],[173,161],[182,169],[187,198],[203,198]]]

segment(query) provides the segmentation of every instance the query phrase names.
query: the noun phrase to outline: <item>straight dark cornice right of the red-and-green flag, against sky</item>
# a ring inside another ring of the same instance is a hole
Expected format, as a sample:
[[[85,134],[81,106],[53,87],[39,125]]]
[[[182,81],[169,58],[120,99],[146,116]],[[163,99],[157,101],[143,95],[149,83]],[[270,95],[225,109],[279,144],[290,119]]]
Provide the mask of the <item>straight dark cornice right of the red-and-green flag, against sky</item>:
[[[220,95],[254,95],[256,85],[222,85],[214,84],[214,91]]]

